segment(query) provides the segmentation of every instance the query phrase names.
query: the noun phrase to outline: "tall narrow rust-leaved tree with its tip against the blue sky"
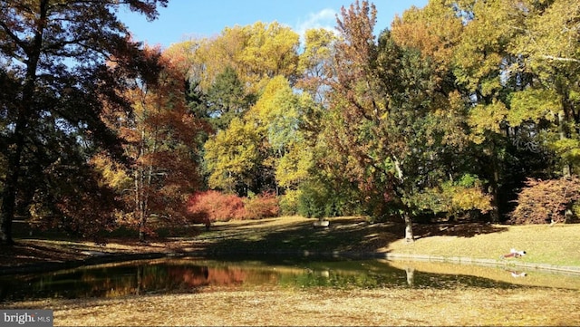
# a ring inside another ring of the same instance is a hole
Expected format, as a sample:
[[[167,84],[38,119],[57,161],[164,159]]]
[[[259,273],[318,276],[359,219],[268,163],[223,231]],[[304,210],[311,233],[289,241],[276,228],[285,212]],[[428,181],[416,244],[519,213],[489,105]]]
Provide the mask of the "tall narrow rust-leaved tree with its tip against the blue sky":
[[[343,37],[336,44],[334,58],[334,74],[331,88],[332,116],[331,140],[333,147],[348,160],[344,171],[356,180],[360,190],[366,194],[365,205],[369,207],[372,216],[382,216],[386,212],[382,202],[389,200],[393,193],[401,203],[404,195],[402,182],[406,176],[401,169],[401,156],[407,152],[401,147],[407,146],[406,139],[401,135],[391,134],[389,126],[391,111],[395,110],[394,92],[401,82],[395,78],[388,84],[383,84],[385,78],[379,76],[379,46],[375,42],[372,30],[376,21],[376,9],[363,1],[357,1],[349,9],[342,9],[342,20],[338,21],[338,29]],[[392,46],[389,34],[383,34],[386,43]],[[389,53],[391,51],[391,53]],[[382,72],[391,74],[400,68],[400,53],[396,48],[385,48],[385,64],[391,67],[381,67]],[[384,76],[387,77],[387,76]],[[393,130],[394,131],[394,130]],[[372,199],[384,197],[377,206],[372,206]],[[394,203],[394,201],[393,201]],[[399,206],[401,207],[401,206]],[[404,206],[403,206],[404,207]],[[412,240],[411,216],[404,208],[401,216],[406,223],[406,235]]]

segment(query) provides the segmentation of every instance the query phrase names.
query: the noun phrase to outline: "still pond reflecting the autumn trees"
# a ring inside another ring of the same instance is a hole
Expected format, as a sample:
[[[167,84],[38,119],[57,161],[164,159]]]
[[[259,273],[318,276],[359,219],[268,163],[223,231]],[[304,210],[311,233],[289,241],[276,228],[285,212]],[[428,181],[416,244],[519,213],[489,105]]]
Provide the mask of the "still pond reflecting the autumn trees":
[[[212,288],[237,290],[264,286],[580,289],[580,275],[387,260],[163,258],[84,266],[43,274],[0,276],[0,303],[48,298],[198,293],[208,292]]]

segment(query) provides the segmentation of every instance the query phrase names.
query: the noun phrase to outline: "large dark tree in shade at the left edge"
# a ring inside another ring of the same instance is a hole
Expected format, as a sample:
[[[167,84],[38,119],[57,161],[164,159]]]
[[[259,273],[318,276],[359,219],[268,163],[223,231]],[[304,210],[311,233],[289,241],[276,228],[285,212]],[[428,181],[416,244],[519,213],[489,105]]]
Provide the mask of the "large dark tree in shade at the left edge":
[[[167,0],[135,0],[122,5],[154,19],[157,5],[167,5]],[[7,153],[0,243],[13,243],[16,199],[22,194],[25,169],[30,167],[22,165],[28,145],[37,139],[44,147],[45,138],[55,136],[43,136],[36,129],[43,117],[52,117],[61,135],[73,131],[91,147],[119,153],[114,133],[99,119],[101,100],[110,98],[123,108],[126,103],[111,91],[122,86],[114,74],[142,67],[140,44],[130,41],[126,27],[115,15],[120,6],[118,1],[108,0],[0,2],[0,63],[3,78],[10,81],[6,85],[11,86],[5,92],[19,100],[1,108],[8,128],[2,134]],[[108,69],[105,62],[113,56],[119,65]],[[41,159],[34,162],[37,168],[52,164]]]

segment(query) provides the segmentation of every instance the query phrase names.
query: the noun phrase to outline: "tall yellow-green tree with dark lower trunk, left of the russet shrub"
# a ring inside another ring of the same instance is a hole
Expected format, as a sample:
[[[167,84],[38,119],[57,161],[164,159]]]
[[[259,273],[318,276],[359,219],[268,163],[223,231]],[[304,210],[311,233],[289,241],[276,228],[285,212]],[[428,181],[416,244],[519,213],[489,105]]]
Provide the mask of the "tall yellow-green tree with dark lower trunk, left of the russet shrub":
[[[510,158],[505,121],[512,85],[506,81],[506,71],[517,62],[517,57],[507,52],[507,44],[516,32],[507,24],[512,8],[505,1],[453,2],[450,6],[462,15],[465,24],[454,48],[453,72],[469,107],[471,140],[478,149],[475,158],[485,162],[478,165],[478,175],[488,181],[491,220],[499,222],[503,190],[509,188],[505,184]]]

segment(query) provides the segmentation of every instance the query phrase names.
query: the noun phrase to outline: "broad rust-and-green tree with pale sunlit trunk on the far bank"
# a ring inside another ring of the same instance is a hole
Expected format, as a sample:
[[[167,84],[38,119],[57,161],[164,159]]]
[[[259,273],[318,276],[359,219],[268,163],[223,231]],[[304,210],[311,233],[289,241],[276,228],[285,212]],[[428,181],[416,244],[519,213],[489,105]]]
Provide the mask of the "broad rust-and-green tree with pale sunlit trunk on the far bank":
[[[429,55],[398,45],[390,31],[375,41],[375,17],[374,6],[367,2],[343,8],[330,132],[333,146],[347,158],[343,170],[366,194],[369,213],[401,215],[405,238],[411,241],[421,194],[441,181],[454,185],[466,173],[464,166],[449,159],[456,146],[465,143],[465,126],[461,120],[449,120],[446,112],[460,115],[463,107],[453,104],[457,95]],[[457,135],[461,131],[463,139]],[[480,186],[469,188],[481,201],[467,201],[461,209],[487,211]],[[453,189],[459,193],[459,186]]]

